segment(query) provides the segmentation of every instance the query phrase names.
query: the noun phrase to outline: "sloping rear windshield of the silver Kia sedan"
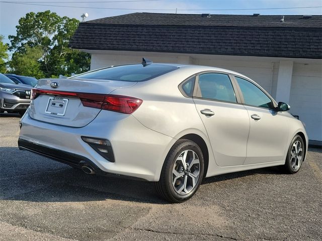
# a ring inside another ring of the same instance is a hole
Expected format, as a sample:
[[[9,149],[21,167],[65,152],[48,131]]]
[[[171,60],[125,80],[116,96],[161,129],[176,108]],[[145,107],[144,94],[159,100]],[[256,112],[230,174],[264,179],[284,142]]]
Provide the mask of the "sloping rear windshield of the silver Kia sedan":
[[[165,64],[151,64],[146,66],[143,66],[142,64],[133,64],[99,69],[71,78],[138,82],[155,78],[176,69],[178,69],[178,67]]]

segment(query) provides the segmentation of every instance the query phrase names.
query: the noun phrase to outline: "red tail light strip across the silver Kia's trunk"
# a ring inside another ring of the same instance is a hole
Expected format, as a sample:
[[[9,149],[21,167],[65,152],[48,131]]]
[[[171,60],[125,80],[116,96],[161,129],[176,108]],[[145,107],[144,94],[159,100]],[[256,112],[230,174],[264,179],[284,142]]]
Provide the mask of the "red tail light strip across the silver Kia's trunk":
[[[31,99],[37,98],[40,94],[79,98],[84,106],[126,114],[133,113],[143,102],[139,98],[124,95],[79,93],[47,89],[32,89]]]

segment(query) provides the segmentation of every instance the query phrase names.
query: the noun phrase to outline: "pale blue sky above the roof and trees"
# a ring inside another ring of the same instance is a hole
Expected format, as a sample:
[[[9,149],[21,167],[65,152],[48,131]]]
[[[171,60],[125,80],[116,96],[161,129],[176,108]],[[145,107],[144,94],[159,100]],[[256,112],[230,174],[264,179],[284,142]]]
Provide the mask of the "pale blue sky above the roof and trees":
[[[104,0],[0,0],[0,2],[41,2],[38,4],[76,6],[82,8],[62,8],[46,7],[0,3],[0,34],[5,36],[5,42],[8,43],[8,35],[16,34],[16,25],[21,17],[29,12],[42,12],[50,10],[60,16],[76,18],[81,20],[82,13],[88,13],[87,20],[117,16],[135,12],[152,12],[152,13],[175,13],[177,9],[205,11],[178,11],[178,14],[246,14],[252,15],[259,13],[261,15],[321,15],[322,8],[315,9],[283,9],[283,10],[243,10],[243,11],[214,11],[215,9],[256,9],[256,8],[289,8],[289,7],[315,7],[322,6],[322,0],[152,0],[150,2],[126,2],[126,3],[94,3]],[[105,0],[113,1],[113,0]],[[118,0],[114,0],[118,1]],[[121,0],[119,0],[121,1]],[[128,0],[131,1],[131,0]],[[137,0],[136,0],[137,1]],[[59,2],[53,4],[52,2]],[[66,3],[69,2],[69,3]],[[75,2],[75,3],[70,3]],[[91,3],[79,3],[91,2]],[[35,3],[37,4],[37,3]],[[89,9],[92,8],[126,8],[126,9],[151,9],[151,10],[107,10],[107,9]],[[162,9],[162,10],[160,10]],[[165,11],[164,9],[169,9]],[[211,11],[209,11],[211,9]]]

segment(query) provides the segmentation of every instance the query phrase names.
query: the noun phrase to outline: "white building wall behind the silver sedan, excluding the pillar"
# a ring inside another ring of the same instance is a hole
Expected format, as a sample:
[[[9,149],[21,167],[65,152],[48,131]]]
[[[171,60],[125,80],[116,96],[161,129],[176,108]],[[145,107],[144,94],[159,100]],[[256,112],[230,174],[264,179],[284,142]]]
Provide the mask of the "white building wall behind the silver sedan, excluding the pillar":
[[[290,112],[299,115],[306,125],[310,140],[322,141],[322,72],[321,61],[313,59],[287,59],[250,56],[188,55],[176,53],[102,51],[92,53],[91,69],[111,65],[139,63],[142,56],[159,63],[181,63],[215,66],[244,74],[260,84],[274,98],[279,78],[280,61],[293,61]],[[281,75],[280,75],[281,76]],[[281,94],[281,93],[280,93]],[[279,99],[276,99],[279,101]]]

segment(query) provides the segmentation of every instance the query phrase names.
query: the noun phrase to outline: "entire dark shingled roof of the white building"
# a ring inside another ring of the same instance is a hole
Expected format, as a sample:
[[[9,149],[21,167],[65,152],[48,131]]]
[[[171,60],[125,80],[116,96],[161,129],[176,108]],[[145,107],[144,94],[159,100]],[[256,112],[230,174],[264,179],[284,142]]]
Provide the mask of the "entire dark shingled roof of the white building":
[[[127,50],[322,58],[322,16],[134,13],[79,24],[69,46]]]

